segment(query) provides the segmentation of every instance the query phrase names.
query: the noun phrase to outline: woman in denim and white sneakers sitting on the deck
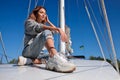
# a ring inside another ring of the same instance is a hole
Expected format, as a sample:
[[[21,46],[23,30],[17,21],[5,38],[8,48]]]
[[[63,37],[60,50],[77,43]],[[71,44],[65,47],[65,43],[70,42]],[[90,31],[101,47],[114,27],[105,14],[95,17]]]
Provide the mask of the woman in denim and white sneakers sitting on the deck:
[[[58,54],[54,47],[51,31],[60,33],[63,42],[68,41],[66,34],[49,21],[46,9],[42,6],[36,7],[25,22],[24,50],[22,56],[18,59],[18,65],[41,63],[41,60],[37,59],[37,57],[45,46],[50,55],[46,63],[47,69],[58,72],[72,72],[75,70],[74,64]]]

